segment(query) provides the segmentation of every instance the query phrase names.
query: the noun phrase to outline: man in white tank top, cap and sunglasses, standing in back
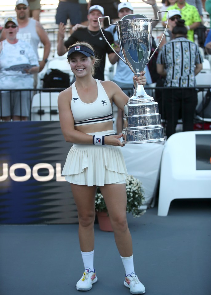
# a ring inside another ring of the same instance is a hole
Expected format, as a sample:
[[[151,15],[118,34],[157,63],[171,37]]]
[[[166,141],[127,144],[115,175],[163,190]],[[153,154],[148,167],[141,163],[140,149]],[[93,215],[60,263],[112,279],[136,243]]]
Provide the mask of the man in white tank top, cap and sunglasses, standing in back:
[[[29,18],[30,8],[27,0],[18,0],[15,4],[15,11],[17,13],[18,21],[17,38],[30,43],[37,55],[38,60],[38,44],[39,42],[42,42],[44,45],[43,58],[42,61],[39,62],[41,71],[48,61],[48,56],[50,54],[50,40],[48,35],[38,21],[33,18]],[[3,30],[0,41],[4,40],[5,38],[5,30]],[[36,85],[34,86],[36,88]]]

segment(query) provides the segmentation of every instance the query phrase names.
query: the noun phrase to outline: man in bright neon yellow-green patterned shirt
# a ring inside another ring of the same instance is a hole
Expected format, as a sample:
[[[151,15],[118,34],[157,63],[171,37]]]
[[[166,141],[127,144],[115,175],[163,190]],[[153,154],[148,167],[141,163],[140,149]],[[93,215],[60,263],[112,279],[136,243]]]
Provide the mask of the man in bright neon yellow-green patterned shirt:
[[[194,42],[194,30],[200,25],[201,17],[195,6],[188,4],[185,0],[177,0],[177,2],[169,6],[167,10],[176,9],[181,12],[182,19],[185,20],[185,26],[188,30],[187,38]],[[162,18],[162,21],[167,20],[167,12]]]

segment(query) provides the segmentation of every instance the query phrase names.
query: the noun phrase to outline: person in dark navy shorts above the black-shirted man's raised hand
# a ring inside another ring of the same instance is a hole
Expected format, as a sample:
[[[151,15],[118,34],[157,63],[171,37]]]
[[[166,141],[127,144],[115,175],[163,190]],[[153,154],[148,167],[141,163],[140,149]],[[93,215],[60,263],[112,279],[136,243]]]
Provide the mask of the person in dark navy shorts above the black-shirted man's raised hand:
[[[59,0],[56,10],[56,24],[61,22],[66,25],[67,20],[70,20],[70,34],[72,26],[81,22],[81,8],[78,0]]]

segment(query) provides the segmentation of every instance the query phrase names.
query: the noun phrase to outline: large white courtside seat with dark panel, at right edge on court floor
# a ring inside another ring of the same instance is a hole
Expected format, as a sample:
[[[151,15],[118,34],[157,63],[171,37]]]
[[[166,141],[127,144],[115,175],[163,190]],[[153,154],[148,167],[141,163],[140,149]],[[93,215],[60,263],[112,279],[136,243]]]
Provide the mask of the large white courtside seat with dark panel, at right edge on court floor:
[[[196,149],[199,136],[200,157]],[[179,132],[167,139],[161,159],[157,215],[167,216],[174,199],[211,198],[210,142],[211,131]],[[197,167],[200,159],[202,167],[207,165],[207,169]]]

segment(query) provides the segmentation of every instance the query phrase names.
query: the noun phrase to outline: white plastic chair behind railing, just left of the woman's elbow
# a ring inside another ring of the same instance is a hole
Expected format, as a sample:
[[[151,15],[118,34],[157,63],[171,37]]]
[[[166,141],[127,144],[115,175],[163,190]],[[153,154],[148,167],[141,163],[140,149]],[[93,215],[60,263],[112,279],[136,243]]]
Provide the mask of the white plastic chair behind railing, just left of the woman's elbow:
[[[58,114],[59,92],[41,92],[32,98],[31,120],[32,121],[59,121]]]

